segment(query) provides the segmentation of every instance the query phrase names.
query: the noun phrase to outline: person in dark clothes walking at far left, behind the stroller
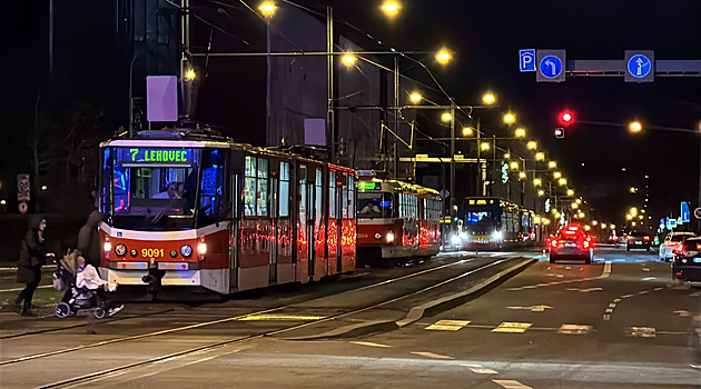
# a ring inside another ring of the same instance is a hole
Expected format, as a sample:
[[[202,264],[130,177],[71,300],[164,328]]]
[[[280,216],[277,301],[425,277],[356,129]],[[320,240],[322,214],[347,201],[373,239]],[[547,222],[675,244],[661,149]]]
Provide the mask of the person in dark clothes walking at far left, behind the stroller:
[[[14,303],[22,306],[21,316],[36,315],[31,310],[31,299],[41,280],[41,267],[46,265],[47,258],[56,257],[53,253],[47,252],[46,228],[47,219],[41,215],[32,215],[29,218],[29,230],[24,235],[20,247],[20,257],[17,262],[17,282],[26,283],[27,287],[14,299]]]

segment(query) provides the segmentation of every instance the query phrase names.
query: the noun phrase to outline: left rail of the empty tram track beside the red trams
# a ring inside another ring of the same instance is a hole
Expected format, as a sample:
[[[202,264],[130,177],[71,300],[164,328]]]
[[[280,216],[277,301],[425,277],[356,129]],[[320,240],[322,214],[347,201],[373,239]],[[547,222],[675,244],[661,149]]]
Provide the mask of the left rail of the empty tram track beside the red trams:
[[[468,257],[468,258],[457,259],[457,260],[448,262],[448,263],[440,265],[440,266],[436,266],[436,267],[430,267],[427,269],[422,269],[422,270],[415,271],[415,272],[409,272],[409,273],[403,275],[401,277],[395,277],[395,278],[392,278],[392,279],[382,280],[382,281],[378,281],[378,282],[375,282],[375,283],[371,283],[371,285],[367,285],[367,286],[363,286],[363,287],[359,287],[359,288],[344,290],[344,291],[339,291],[339,292],[333,293],[333,295],[327,295],[324,298],[329,298],[329,297],[338,296],[338,295],[342,295],[342,293],[361,292],[361,291],[369,290],[369,289],[373,289],[373,288],[385,287],[385,286],[392,285],[392,283],[405,281],[405,280],[408,280],[408,279],[412,279],[412,278],[415,278],[415,277],[419,277],[419,276],[424,276],[424,275],[427,275],[427,273],[431,273],[431,272],[448,269],[448,268],[452,268],[452,267],[455,267],[455,266],[460,266],[460,265],[465,265],[465,263],[471,262],[471,261],[473,261],[475,259],[477,259],[477,258],[476,257]],[[37,352],[37,353],[33,353],[33,355],[28,355],[28,356],[23,356],[23,357],[18,357],[18,358],[12,358],[12,359],[8,359],[8,360],[2,360],[2,361],[0,361],[0,368],[4,367],[4,366],[8,366],[8,365],[16,365],[16,363],[20,363],[20,362],[26,362],[26,361],[30,361],[30,360],[37,360],[37,359],[53,357],[53,356],[58,356],[58,355],[65,355],[65,353],[69,353],[69,352],[77,352],[77,351],[82,351],[82,350],[86,350],[86,349],[91,349],[91,348],[97,348],[97,347],[103,347],[103,346],[109,346],[109,345],[115,345],[115,343],[120,343],[120,342],[139,340],[139,339],[144,339],[144,338],[170,335],[170,333],[175,333],[175,332],[180,332],[180,331],[186,331],[186,330],[191,330],[191,329],[197,329],[197,328],[203,328],[203,327],[208,327],[208,326],[221,325],[221,323],[225,323],[225,322],[238,321],[238,320],[243,320],[243,319],[245,319],[247,317],[256,317],[256,316],[265,315],[265,313],[279,312],[279,311],[284,311],[285,309],[292,308],[293,306],[296,306],[296,305],[299,305],[299,303],[309,302],[309,301],[314,301],[314,300],[317,300],[317,299],[319,299],[319,298],[318,297],[314,297],[314,298],[310,298],[310,299],[307,299],[307,300],[296,301],[296,302],[294,302],[292,305],[273,307],[273,308],[263,309],[263,310],[255,310],[255,311],[245,312],[245,313],[241,313],[241,315],[235,315],[235,316],[226,317],[226,318],[221,318],[221,319],[203,321],[203,322],[198,322],[198,323],[194,323],[194,325],[187,325],[187,326],[180,326],[180,327],[174,327],[174,328],[167,328],[167,329],[161,329],[161,330],[158,330],[158,331],[150,331],[150,332],[144,332],[144,333],[138,333],[138,335],[125,336],[125,337],[119,337],[119,338],[115,338],[115,339],[92,342],[92,343],[88,343],[88,345],[80,345],[80,346],[75,346],[75,347],[68,347],[68,348],[62,348],[62,349],[47,351],[47,352]],[[164,311],[161,313],[167,313],[167,311]],[[154,315],[156,315],[156,312],[151,312],[151,316],[154,316]],[[125,319],[121,319],[121,320],[124,321],[124,320],[129,320],[129,319],[137,319],[137,318],[141,318],[141,317],[128,317],[128,318],[125,318]],[[112,321],[116,321],[116,320],[112,320]],[[324,321],[326,321],[326,320],[324,320]],[[319,322],[323,322],[323,321],[319,321]],[[304,325],[308,325],[308,322],[304,323]],[[59,332],[59,331],[62,331],[62,330],[76,329],[76,328],[86,327],[86,326],[89,326],[89,325],[88,323],[81,323],[81,325],[76,325],[76,326],[68,326],[68,327],[61,327],[61,328],[46,329],[46,330],[39,330],[39,331],[29,331],[29,332],[18,333],[18,335],[14,335],[14,336],[6,336],[6,339],[20,338],[20,337],[32,336],[32,335],[45,335],[45,333],[50,333],[50,332]]]

